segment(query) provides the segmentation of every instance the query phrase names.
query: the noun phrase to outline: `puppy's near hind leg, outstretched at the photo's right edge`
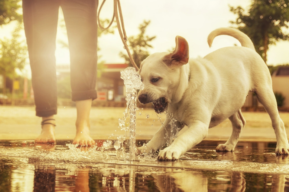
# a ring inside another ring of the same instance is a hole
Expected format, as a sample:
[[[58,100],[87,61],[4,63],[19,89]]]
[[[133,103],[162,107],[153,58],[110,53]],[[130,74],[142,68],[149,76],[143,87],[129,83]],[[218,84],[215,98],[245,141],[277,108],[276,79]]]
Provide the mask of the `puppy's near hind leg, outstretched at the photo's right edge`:
[[[263,85],[264,86],[264,85]],[[277,146],[275,153],[277,155],[288,155],[289,154],[289,143],[284,127],[284,123],[281,120],[277,108],[277,101],[271,86],[262,87],[263,89],[257,89],[255,91],[257,95],[258,101],[264,106],[266,112],[269,114],[272,127],[274,129],[276,139],[277,139]]]

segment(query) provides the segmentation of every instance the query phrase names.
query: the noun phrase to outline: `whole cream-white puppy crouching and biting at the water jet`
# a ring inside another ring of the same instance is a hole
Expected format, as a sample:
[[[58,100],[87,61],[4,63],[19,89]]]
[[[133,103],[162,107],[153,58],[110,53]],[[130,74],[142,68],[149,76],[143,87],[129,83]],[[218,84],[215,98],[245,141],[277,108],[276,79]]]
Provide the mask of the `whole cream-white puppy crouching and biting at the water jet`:
[[[288,155],[289,144],[281,120],[277,102],[272,90],[272,80],[268,67],[255,52],[251,39],[236,29],[220,28],[208,36],[211,46],[214,37],[230,35],[242,45],[218,49],[203,59],[189,61],[189,47],[186,39],[176,37],[173,52],[154,53],[140,66],[139,74],[144,89],[138,93],[140,103],[153,103],[157,113],[168,111],[177,119],[167,117],[153,138],[139,148],[141,153],[156,151],[170,139],[171,126],[188,130],[173,143],[160,150],[160,161],[179,159],[187,150],[201,142],[208,129],[229,118],[233,131],[225,144],[217,146],[217,151],[233,151],[246,121],[241,107],[249,91],[270,115],[277,138],[276,154]]]

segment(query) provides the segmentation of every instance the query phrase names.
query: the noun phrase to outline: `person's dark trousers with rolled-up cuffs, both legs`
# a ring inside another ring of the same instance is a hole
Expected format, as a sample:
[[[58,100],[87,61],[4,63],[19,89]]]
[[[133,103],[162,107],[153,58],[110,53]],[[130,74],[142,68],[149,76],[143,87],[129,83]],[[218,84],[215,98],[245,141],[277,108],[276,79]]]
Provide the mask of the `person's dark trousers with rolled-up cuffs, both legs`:
[[[96,99],[98,0],[23,0],[23,21],[36,116],[57,114],[55,67],[58,10],[68,35],[72,100]]]

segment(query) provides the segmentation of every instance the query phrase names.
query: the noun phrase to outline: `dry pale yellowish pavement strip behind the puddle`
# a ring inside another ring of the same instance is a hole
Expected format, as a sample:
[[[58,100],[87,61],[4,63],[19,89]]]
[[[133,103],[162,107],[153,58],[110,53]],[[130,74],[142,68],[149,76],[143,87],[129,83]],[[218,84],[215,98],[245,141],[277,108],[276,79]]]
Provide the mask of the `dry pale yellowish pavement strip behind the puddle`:
[[[90,131],[95,140],[115,139],[129,131],[118,128],[118,118],[124,116],[125,108],[94,108],[90,113]],[[247,121],[241,141],[276,141],[271,120],[264,112],[243,112]],[[289,113],[280,112],[289,135]],[[75,136],[76,108],[61,106],[55,116],[55,137],[57,140],[73,140]],[[153,109],[140,109],[136,114],[136,139],[150,140],[161,126],[165,115],[156,114]],[[0,140],[34,140],[41,132],[41,119],[35,116],[32,106],[0,106]],[[128,122],[128,120],[127,120]],[[180,131],[183,133],[187,127]],[[225,120],[209,129],[206,140],[227,140],[231,135],[231,123]]]

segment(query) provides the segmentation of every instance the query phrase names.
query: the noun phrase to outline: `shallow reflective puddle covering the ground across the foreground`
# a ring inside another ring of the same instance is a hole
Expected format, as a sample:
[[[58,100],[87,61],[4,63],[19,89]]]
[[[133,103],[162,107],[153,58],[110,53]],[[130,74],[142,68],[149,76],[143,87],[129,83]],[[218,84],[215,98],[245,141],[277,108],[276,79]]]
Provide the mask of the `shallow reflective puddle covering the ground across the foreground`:
[[[233,153],[216,153],[222,142],[203,141],[175,162],[129,161],[129,141],[122,157],[113,144],[68,143],[0,141],[0,191],[289,191],[288,157],[275,156],[274,142],[239,142]]]

